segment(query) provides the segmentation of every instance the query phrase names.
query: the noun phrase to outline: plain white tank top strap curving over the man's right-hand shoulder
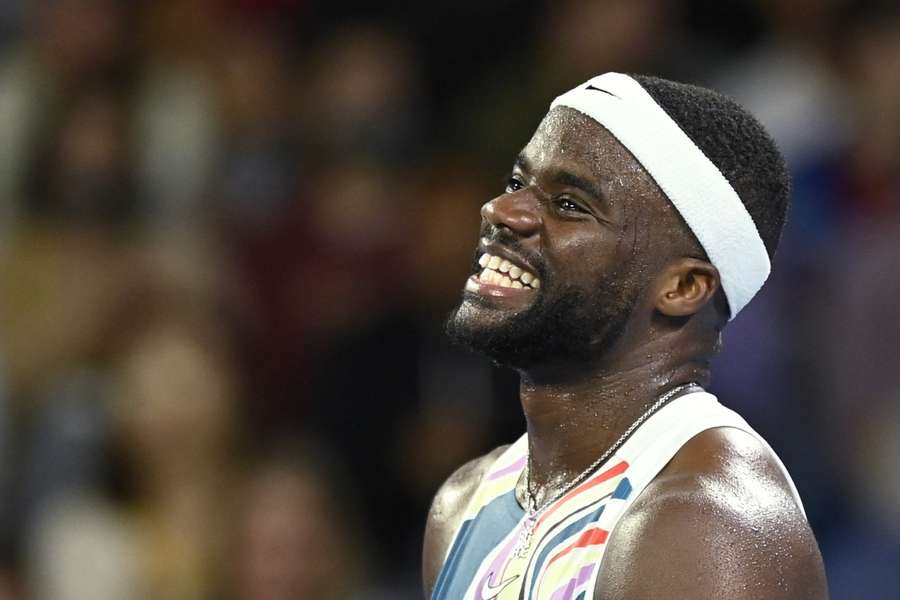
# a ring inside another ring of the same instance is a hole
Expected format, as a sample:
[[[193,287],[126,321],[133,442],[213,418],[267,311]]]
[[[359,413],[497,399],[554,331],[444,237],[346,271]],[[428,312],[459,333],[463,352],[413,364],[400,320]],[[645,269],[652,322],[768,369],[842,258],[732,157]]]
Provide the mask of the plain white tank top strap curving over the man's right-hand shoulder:
[[[632,434],[616,452],[616,455],[629,463],[629,479],[632,487],[639,492],[659,474],[691,438],[717,427],[733,427],[756,438],[771,453],[790,486],[794,501],[806,516],[800,494],[772,447],[750,427],[743,417],[722,406],[714,395],[705,391],[685,394],[659,409]],[[623,512],[624,508],[633,503],[639,495],[640,493],[631,495],[623,507]]]

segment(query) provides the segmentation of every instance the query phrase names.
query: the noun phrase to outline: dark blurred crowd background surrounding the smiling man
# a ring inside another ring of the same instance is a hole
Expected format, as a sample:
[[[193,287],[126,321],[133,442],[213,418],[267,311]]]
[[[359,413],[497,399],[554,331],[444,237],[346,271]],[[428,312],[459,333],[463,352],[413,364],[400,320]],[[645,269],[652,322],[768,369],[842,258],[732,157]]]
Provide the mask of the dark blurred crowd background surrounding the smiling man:
[[[610,69],[724,91],[786,154],[714,391],[832,597],[896,598],[897,3],[363,4],[0,1],[0,600],[420,597],[432,494],[524,426],[441,334],[478,208]]]

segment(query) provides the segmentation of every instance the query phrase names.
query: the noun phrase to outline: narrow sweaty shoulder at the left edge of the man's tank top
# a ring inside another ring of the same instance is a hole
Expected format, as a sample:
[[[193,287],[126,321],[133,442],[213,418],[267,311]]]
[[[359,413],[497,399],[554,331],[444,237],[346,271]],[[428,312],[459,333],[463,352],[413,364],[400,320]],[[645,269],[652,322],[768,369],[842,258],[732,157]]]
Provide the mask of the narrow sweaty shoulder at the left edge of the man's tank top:
[[[500,446],[491,452],[461,466],[440,487],[431,503],[425,525],[425,542],[422,550],[422,578],[425,597],[431,590],[444,564],[444,557],[453,541],[469,499],[488,468],[509,446]]]

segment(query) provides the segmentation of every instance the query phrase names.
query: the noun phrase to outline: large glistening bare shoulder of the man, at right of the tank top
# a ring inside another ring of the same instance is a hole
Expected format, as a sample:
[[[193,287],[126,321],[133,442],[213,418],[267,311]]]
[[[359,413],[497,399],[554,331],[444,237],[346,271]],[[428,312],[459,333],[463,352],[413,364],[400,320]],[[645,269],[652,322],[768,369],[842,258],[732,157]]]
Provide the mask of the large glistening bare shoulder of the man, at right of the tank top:
[[[826,600],[822,557],[772,453],[751,435],[690,440],[616,527],[595,599]]]

